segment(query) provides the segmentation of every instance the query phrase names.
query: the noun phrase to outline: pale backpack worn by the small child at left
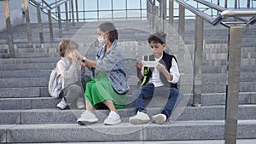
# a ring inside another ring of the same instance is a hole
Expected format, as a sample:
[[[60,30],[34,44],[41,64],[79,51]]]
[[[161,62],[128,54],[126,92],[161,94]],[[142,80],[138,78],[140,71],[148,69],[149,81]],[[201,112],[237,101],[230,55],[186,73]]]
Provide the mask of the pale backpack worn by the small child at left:
[[[61,74],[57,74],[56,68],[54,68],[49,75],[49,95],[58,98],[63,87],[64,83],[61,81]]]

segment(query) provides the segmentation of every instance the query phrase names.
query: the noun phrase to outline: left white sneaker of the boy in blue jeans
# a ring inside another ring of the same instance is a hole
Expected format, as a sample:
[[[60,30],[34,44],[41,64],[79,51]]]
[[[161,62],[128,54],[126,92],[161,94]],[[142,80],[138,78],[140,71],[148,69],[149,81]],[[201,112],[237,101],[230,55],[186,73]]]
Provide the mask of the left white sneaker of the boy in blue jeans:
[[[129,118],[129,123],[131,124],[147,124],[150,122],[150,118],[147,113],[137,112],[137,115]]]

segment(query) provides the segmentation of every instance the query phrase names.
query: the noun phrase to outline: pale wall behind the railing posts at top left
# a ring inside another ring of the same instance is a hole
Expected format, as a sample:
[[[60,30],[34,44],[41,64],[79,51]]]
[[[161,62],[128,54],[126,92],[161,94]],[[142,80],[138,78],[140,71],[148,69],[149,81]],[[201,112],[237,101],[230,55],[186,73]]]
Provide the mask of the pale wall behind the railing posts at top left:
[[[25,14],[23,12],[24,0],[9,0],[9,12],[10,12],[10,20],[12,26],[18,26],[20,24],[24,24],[26,22],[25,20]],[[29,4],[29,17],[31,23],[37,23],[38,17],[37,17],[37,9],[36,7],[33,7],[31,4]],[[41,13],[41,19],[42,22],[48,22],[48,16],[47,14]],[[0,31],[6,30],[6,21],[4,17],[4,8],[3,8],[3,2],[0,2]]]

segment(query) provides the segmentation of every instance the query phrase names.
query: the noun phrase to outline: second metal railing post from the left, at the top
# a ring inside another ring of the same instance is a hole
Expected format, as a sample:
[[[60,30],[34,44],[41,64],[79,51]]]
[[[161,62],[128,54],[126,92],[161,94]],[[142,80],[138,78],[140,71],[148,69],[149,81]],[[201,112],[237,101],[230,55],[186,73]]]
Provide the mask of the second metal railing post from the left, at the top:
[[[31,33],[31,26],[30,26],[30,20],[29,20],[28,0],[24,0],[24,10],[25,10],[25,18],[26,18],[27,43],[32,43],[32,33]]]

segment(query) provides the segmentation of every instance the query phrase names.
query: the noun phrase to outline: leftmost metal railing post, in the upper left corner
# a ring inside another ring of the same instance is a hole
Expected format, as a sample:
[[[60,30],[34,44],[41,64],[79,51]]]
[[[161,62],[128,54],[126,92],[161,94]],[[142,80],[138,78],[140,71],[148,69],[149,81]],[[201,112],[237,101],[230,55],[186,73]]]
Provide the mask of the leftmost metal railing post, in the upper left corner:
[[[9,57],[15,57],[13,28],[9,17],[9,1],[3,1],[4,17],[6,22],[6,30],[8,35]]]

